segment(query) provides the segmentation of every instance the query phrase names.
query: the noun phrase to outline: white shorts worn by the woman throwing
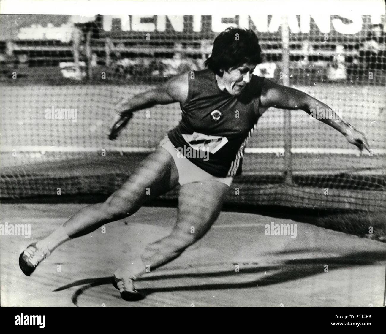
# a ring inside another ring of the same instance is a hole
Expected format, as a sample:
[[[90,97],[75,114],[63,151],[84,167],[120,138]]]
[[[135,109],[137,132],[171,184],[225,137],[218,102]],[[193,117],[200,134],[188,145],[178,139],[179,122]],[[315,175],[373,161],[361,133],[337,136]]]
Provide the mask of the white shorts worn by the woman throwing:
[[[227,176],[225,178],[218,178],[213,176],[206,171],[202,170],[200,167],[196,166],[194,163],[185,158],[185,156],[178,154],[178,150],[171,143],[168,136],[165,136],[164,139],[159,143],[159,146],[166,149],[171,156],[173,157],[174,163],[177,166],[178,170],[178,182],[180,185],[191,182],[200,182],[205,180],[218,181],[221,183],[230,186],[233,181],[233,176]]]

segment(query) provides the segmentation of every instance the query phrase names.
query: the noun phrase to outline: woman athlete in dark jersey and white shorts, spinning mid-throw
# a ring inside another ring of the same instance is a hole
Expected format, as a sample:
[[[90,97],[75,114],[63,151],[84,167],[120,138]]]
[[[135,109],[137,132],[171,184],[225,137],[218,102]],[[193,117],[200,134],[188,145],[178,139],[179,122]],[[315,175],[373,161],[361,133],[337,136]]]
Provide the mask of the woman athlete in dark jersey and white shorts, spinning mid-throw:
[[[286,110],[328,108],[300,92],[253,75],[261,63],[261,48],[252,30],[228,28],[220,33],[207,59],[207,70],[178,75],[157,88],[125,99],[118,112],[130,115],[156,104],[179,102],[182,119],[159,148],[134,171],[104,203],[78,211],[62,227],[20,254],[21,270],[30,275],[60,244],[95,231],[102,225],[134,214],[145,201],[178,184],[176,224],[170,234],[149,244],[134,261],[126,260],[114,273],[113,285],[125,300],[139,300],[135,279],[177,258],[203,237],[220,213],[234,176],[241,173],[242,157],[252,131],[269,107]],[[321,119],[359,149],[369,145],[363,134],[332,112]],[[146,195],[147,188],[151,195]],[[191,226],[195,233],[191,233]]]

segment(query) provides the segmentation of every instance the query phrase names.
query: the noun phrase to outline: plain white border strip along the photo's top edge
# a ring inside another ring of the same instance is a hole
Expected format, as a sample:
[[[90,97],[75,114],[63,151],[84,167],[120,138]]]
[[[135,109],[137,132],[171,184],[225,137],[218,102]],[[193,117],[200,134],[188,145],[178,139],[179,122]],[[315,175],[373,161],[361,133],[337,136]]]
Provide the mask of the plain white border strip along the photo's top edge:
[[[222,15],[375,14],[383,0],[0,0],[1,14]]]

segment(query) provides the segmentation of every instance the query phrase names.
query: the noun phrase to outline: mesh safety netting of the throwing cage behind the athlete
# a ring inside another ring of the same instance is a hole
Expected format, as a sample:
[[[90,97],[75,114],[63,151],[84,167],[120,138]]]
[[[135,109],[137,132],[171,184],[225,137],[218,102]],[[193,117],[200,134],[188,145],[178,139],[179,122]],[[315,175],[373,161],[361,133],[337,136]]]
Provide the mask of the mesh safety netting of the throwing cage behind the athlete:
[[[0,43],[2,198],[54,196],[58,188],[62,195],[119,188],[178,124],[180,109],[175,103],[138,111],[109,141],[115,106],[173,75],[204,68],[218,34],[211,16],[200,18],[200,31],[189,15],[181,19],[182,31],[178,20],[161,16],[129,15],[130,31],[123,29],[125,19],[106,15],[86,23],[74,23],[70,15],[17,18],[30,30],[2,36]],[[2,15],[7,31],[13,20],[15,15]],[[372,154],[361,154],[301,110],[269,109],[248,143],[243,175],[235,178],[228,201],[386,210],[385,15],[379,22],[363,15],[356,32],[347,31],[352,22],[335,15],[326,21],[330,29],[322,17],[308,17],[308,25],[304,20],[288,17],[287,41],[286,25],[274,15],[267,16],[266,31],[251,17],[220,22],[254,29],[264,53],[255,74],[329,105],[366,134]],[[60,24],[55,37],[47,33]],[[177,191],[164,198],[175,198]]]

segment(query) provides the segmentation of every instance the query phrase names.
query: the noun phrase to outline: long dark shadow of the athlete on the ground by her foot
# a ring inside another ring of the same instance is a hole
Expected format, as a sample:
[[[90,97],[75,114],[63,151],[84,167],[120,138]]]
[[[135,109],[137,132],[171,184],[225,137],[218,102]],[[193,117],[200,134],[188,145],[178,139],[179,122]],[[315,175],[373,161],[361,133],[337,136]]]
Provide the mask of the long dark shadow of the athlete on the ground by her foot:
[[[310,250],[315,251],[315,249]],[[304,253],[304,249],[299,251],[298,254]],[[294,251],[284,251],[273,254],[274,258],[283,254],[297,254]],[[144,295],[150,295],[154,292],[173,292],[173,291],[196,291],[196,290],[222,290],[222,289],[239,289],[239,288],[252,288],[252,287],[262,287],[267,285],[273,285],[278,283],[283,283],[291,280],[298,280],[300,278],[305,278],[308,276],[318,275],[324,272],[325,265],[328,265],[328,270],[336,270],[343,268],[350,268],[354,266],[366,266],[371,265],[379,261],[385,261],[386,252],[385,251],[372,251],[372,252],[360,252],[360,253],[350,253],[344,256],[336,257],[325,257],[325,258],[315,258],[315,259],[295,259],[295,260],[286,260],[274,265],[259,265],[249,266],[248,268],[240,270],[241,274],[254,274],[262,273],[265,275],[256,280],[249,282],[233,282],[230,280],[229,276],[240,275],[240,273],[235,273],[234,271],[213,271],[208,273],[179,273],[179,274],[165,274],[162,272],[157,276],[152,278],[144,278],[142,281],[147,280],[162,280],[170,278],[198,278],[200,277],[205,281],[205,278],[210,277],[220,277],[224,276],[224,283],[207,283],[200,285],[184,285],[184,286],[173,286],[173,287],[161,287],[161,288],[144,288],[140,292]],[[239,276],[237,276],[238,278]],[[102,277],[102,278],[90,278],[86,280],[75,281],[71,284],[60,287],[54,291],[60,291],[68,289],[74,286],[84,285],[72,296],[72,301],[77,305],[78,297],[85,291],[92,287],[99,285],[111,284],[112,277]]]

